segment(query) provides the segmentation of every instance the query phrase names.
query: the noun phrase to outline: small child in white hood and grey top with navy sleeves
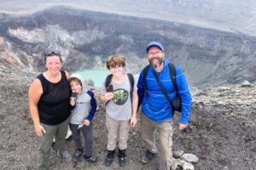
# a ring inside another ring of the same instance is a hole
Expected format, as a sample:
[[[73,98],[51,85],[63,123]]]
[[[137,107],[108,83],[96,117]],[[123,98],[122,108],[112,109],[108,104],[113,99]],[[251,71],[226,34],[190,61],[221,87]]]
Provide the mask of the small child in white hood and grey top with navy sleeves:
[[[90,163],[97,163],[98,157],[92,156],[93,133],[91,121],[96,112],[96,99],[93,92],[86,89],[83,77],[79,74],[73,74],[68,80],[70,88],[76,97],[70,99],[71,120],[70,127],[77,149],[74,151],[74,161],[79,161],[84,153],[84,160]],[[84,135],[84,149],[82,147],[80,133]]]

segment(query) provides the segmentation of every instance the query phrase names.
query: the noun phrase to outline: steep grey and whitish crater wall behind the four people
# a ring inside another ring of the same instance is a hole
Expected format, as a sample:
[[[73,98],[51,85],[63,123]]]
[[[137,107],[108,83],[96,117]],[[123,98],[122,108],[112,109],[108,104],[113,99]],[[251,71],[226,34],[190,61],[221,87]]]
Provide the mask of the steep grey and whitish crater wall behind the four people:
[[[124,54],[127,70],[137,73],[148,63],[145,46],[156,40],[191,86],[256,80],[256,38],[240,33],[70,7],[4,16],[0,61],[23,71],[43,71],[44,52],[56,49],[68,71],[102,69],[108,55]]]

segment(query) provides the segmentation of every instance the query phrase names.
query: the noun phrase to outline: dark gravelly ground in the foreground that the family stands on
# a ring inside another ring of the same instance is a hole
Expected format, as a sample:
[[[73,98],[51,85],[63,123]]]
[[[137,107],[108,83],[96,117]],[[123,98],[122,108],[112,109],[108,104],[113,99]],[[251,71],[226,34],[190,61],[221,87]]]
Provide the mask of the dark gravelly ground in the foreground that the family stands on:
[[[15,71],[0,65],[0,169],[35,169],[38,137],[34,133],[27,104],[27,88],[35,75]],[[98,90],[93,89],[98,98]],[[256,83],[207,88],[194,97],[189,122],[191,131],[174,130],[173,150],[183,150],[199,157],[196,170],[253,170],[256,167]],[[99,101],[99,100],[98,100]],[[178,114],[175,116],[177,127]],[[49,169],[119,169],[117,160],[112,167],[103,165],[106,155],[107,130],[102,103],[94,118],[94,154],[100,156],[99,165],[85,161],[67,164],[52,150]],[[73,152],[72,137],[67,140],[67,150]],[[145,144],[141,138],[140,122],[131,129],[129,164],[124,169],[155,170],[155,161],[148,165],[140,162]]]

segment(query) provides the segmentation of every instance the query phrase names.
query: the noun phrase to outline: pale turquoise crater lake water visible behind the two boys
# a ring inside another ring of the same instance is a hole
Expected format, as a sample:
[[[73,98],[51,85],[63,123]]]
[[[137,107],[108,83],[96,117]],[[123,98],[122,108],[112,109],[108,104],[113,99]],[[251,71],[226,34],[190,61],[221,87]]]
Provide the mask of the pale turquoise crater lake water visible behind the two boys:
[[[86,71],[77,71],[79,74],[84,77],[85,80],[92,80],[96,88],[102,88],[102,82],[105,80],[105,77],[110,74],[110,71],[100,71],[100,70],[86,70]],[[134,78],[137,82],[138,75],[134,75]]]

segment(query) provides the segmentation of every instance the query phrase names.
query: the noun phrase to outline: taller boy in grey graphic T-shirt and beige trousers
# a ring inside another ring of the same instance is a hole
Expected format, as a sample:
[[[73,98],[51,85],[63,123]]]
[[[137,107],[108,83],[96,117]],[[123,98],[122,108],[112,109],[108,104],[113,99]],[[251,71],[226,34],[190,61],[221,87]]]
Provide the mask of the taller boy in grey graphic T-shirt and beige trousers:
[[[105,165],[109,167],[113,162],[116,144],[119,144],[119,166],[127,163],[125,150],[129,127],[137,123],[137,86],[131,87],[131,80],[125,74],[125,58],[122,55],[111,55],[107,59],[108,70],[112,74],[111,85],[102,84],[101,99],[106,103],[106,125],[108,129],[108,155]],[[134,79],[133,79],[134,82]],[[110,89],[109,87],[112,87]],[[107,90],[108,89],[108,90]],[[133,91],[131,92],[131,89]],[[132,94],[132,97],[131,97]]]

